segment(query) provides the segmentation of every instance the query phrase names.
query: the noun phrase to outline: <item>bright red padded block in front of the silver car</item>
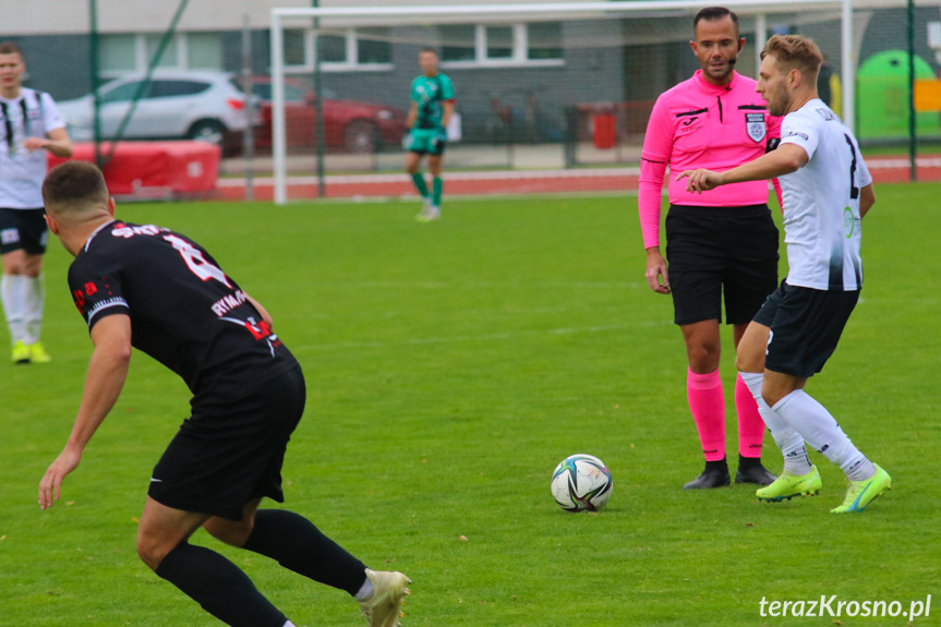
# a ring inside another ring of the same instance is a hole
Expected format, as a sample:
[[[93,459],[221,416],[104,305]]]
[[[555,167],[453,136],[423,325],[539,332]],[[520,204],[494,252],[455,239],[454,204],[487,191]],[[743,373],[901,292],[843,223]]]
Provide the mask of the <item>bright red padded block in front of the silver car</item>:
[[[108,155],[109,143],[101,144]],[[95,145],[73,144],[73,159],[95,161]],[[105,181],[114,196],[172,197],[204,194],[216,188],[221,150],[205,142],[121,142],[105,166]],[[49,153],[49,167],[65,159]]]

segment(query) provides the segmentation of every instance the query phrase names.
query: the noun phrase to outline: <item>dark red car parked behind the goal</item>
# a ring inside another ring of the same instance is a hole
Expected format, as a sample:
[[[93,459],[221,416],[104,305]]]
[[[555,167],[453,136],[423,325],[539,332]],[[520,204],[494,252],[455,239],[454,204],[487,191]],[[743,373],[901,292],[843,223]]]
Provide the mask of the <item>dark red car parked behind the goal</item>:
[[[255,129],[255,145],[272,146],[272,80],[252,79],[252,94],[261,100],[262,125]],[[300,81],[285,82],[285,118],[288,148],[315,146],[316,94]],[[340,100],[324,91],[324,136],[327,148],[349,153],[375,153],[384,145],[398,146],[406,133],[406,113],[393,107]]]

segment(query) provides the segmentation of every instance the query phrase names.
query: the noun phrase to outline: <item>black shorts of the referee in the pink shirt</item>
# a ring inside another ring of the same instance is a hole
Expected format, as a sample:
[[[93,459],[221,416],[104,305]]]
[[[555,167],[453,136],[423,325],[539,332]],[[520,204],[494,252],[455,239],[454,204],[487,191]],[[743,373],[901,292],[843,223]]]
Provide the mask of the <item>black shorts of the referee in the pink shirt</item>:
[[[768,205],[671,205],[666,260],[674,323],[747,324],[777,286],[777,227]]]

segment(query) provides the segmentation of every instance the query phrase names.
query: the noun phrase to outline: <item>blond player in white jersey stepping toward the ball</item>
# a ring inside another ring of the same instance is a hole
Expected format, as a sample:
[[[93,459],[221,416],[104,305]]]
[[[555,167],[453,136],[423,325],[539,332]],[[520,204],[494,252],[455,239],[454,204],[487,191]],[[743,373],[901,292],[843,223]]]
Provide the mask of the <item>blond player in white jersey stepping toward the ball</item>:
[[[690,191],[780,177],[784,191],[787,278],[748,325],[738,346],[741,373],[774,442],[784,472],[756,494],[780,502],[820,492],[805,443],[840,466],[849,480],[834,514],[861,511],[892,487],[892,478],[857,449],[833,415],[804,391],[833,354],[862,288],[862,216],[876,202],[872,177],[853,133],[818,98],[822,63],[811,39],[775,35],[761,53],[756,89],[772,116],[786,116],[781,145],[725,172],[688,170]]]

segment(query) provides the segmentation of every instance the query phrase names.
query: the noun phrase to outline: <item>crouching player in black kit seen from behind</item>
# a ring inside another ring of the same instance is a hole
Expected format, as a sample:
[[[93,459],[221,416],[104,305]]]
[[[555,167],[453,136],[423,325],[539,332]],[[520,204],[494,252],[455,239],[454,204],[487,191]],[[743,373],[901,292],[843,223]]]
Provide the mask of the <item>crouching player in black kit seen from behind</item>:
[[[192,240],[116,220],[114,200],[92,164],[58,166],[43,196],[49,229],[75,256],[69,289],[95,349],[72,434],[39,483],[39,506],[59,499],[62,480],[117,401],[133,346],[193,393],[192,415],[150,479],[137,531],[141,559],[228,625],[292,626],[234,564],[189,544],[204,527],[346,590],[371,626],[398,625],[405,575],[367,569],[298,514],[257,509],[265,496],[283,502],[281,463],[305,398],[301,367],[265,309]]]

